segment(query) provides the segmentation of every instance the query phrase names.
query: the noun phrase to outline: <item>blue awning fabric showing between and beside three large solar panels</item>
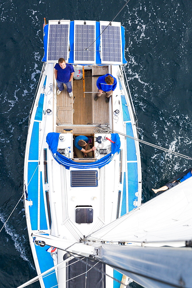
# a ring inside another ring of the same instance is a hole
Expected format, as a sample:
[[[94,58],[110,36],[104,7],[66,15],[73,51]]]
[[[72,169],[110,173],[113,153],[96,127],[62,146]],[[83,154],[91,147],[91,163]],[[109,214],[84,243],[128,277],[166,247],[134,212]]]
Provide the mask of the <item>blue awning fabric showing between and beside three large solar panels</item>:
[[[43,42],[44,42],[44,56],[42,62],[47,61],[47,38],[48,38],[48,27],[49,24],[45,25],[43,29]],[[96,39],[100,35],[100,22],[96,21]],[[121,26],[121,38],[122,38],[122,61],[123,64],[126,64],[125,59],[125,28]],[[74,64],[74,21],[70,21],[70,31],[69,31],[69,41],[70,41],[70,53],[68,63]],[[100,36],[96,40],[96,63],[101,65],[101,56],[100,56]],[[87,65],[79,63],[79,65]],[[105,64],[102,64],[105,65]],[[107,64],[106,64],[107,65]]]

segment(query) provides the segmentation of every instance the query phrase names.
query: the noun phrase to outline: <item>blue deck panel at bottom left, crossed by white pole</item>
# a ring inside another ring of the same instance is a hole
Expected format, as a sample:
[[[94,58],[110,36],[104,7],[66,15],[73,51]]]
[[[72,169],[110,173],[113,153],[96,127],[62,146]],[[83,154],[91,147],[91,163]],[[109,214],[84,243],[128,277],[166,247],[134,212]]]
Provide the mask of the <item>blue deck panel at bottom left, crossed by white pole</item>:
[[[49,246],[47,246],[47,245],[45,245],[45,247],[40,247],[40,246],[35,245],[35,250],[37,253],[37,258],[39,261],[39,267],[40,267],[41,273],[45,272],[46,270],[48,270],[54,266],[53,258],[51,257],[50,253],[46,251],[46,249],[48,247]],[[45,288],[50,288],[50,287],[53,287],[55,285],[56,285],[55,288],[58,288],[57,278],[56,278],[55,273],[53,273],[47,277],[44,277],[43,282],[44,282]]]

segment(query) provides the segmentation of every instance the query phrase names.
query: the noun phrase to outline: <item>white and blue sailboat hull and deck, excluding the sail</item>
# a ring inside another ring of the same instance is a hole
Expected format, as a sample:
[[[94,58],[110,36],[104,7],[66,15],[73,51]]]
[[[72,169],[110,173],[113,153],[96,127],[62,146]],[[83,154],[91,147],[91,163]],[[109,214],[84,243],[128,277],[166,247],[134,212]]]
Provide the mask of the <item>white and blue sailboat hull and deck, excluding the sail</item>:
[[[141,205],[139,143],[123,136],[138,138],[124,79],[124,33],[120,22],[50,20],[44,25],[45,55],[26,144],[25,211],[37,274],[65,262],[39,279],[43,288],[84,287],[84,275],[69,279],[87,265],[56,244],[51,249],[35,245],[32,234],[79,242],[81,247],[85,236]],[[61,57],[74,67],[72,98],[66,90],[56,95],[54,67]],[[105,93],[94,99],[97,79],[106,74],[117,79],[109,103],[105,103]],[[96,147],[89,158],[78,158],[75,153],[74,139],[80,135]],[[108,265],[97,267],[87,272],[87,288],[116,287],[113,277],[128,282],[128,277]]]

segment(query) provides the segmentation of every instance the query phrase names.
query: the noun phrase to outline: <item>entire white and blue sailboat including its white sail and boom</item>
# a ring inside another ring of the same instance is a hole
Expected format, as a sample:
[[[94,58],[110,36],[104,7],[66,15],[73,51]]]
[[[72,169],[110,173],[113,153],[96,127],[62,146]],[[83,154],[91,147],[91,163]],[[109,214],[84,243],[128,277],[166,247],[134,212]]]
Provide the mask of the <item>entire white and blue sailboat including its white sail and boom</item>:
[[[45,23],[46,24],[46,23]],[[141,205],[137,120],[123,65],[120,22],[50,20],[29,119],[25,211],[42,288],[191,287],[191,184]],[[73,65],[73,98],[56,95],[58,58]],[[117,87],[97,101],[98,77]],[[74,139],[97,149],[78,158]]]

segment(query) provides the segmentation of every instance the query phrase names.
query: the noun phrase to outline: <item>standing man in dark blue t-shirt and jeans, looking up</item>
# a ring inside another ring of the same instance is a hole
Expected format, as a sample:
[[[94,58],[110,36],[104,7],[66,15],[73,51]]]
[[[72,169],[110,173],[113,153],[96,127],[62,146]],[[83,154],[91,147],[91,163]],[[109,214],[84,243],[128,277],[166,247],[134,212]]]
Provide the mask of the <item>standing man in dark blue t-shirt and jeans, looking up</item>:
[[[57,81],[58,90],[56,92],[57,95],[61,93],[62,90],[64,90],[64,85],[67,86],[67,92],[69,93],[69,97],[73,97],[72,92],[72,85],[71,80],[73,78],[74,69],[73,66],[66,63],[64,58],[59,58],[59,63],[55,65],[55,79]]]

